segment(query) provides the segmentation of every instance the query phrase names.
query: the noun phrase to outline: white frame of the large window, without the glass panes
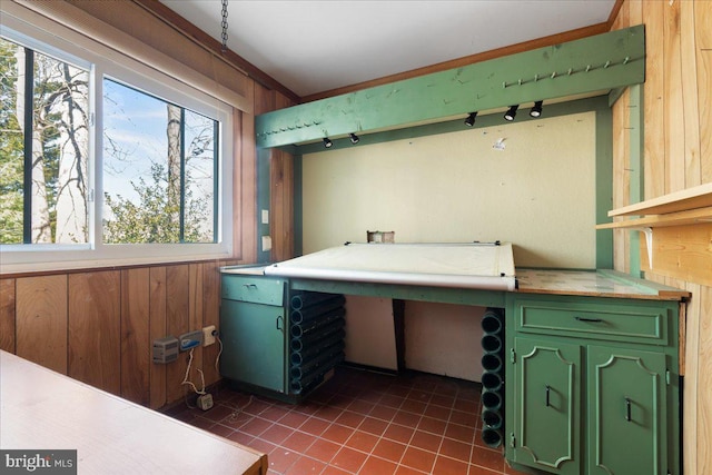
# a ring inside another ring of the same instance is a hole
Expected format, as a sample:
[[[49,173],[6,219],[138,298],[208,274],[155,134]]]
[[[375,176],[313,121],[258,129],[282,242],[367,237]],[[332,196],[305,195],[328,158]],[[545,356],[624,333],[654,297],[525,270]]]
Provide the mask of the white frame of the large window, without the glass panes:
[[[88,244],[0,245],[0,274],[130,266],[229,258],[233,239],[233,107],[191,86],[150,68],[115,49],[76,33],[61,24],[40,28],[3,14],[2,36],[23,47],[52,56],[90,71],[90,121],[87,202]],[[119,81],[161,100],[179,105],[219,122],[217,178],[217,229],[215,243],[103,244],[101,216],[105,207],[102,180],[103,117],[102,82]]]

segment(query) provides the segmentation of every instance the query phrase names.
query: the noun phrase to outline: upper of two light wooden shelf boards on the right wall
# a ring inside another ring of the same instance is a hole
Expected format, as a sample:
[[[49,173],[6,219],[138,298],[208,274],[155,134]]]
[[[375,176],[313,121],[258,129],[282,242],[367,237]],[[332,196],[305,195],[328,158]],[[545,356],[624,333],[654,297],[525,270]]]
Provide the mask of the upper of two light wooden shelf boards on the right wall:
[[[635,205],[613,209],[609,211],[609,216],[666,215],[710,207],[712,207],[712,184],[704,184],[659,198],[636,202]]]

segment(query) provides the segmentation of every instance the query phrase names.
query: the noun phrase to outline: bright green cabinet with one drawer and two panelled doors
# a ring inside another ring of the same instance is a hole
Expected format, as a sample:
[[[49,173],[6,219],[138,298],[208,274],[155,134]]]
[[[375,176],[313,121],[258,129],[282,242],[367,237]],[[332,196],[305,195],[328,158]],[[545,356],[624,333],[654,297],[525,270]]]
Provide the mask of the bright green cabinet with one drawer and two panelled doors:
[[[512,296],[507,458],[564,475],[680,474],[676,317],[674,301]]]

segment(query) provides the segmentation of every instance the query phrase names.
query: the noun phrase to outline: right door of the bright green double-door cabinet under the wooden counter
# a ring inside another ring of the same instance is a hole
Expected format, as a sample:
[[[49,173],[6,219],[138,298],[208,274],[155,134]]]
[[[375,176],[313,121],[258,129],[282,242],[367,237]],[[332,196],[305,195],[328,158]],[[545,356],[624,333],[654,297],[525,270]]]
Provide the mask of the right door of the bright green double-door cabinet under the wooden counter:
[[[589,347],[589,472],[668,473],[665,355]]]

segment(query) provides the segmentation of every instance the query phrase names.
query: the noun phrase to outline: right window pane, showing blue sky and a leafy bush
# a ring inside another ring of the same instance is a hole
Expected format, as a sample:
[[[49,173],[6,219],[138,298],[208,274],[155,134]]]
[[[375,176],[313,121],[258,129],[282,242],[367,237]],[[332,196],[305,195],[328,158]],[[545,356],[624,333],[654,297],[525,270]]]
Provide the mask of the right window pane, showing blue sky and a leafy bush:
[[[108,79],[103,95],[105,243],[212,243],[216,122]]]

